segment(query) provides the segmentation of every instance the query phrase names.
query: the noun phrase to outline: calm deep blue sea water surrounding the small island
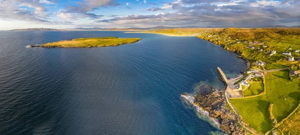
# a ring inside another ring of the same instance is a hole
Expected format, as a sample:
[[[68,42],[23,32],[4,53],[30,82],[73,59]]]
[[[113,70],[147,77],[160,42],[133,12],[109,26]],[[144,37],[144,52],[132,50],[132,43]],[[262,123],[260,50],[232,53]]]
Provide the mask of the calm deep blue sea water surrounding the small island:
[[[104,48],[26,48],[79,37],[141,37]],[[222,88],[245,68],[196,37],[104,31],[0,31],[1,135],[209,135],[180,101],[199,82]]]

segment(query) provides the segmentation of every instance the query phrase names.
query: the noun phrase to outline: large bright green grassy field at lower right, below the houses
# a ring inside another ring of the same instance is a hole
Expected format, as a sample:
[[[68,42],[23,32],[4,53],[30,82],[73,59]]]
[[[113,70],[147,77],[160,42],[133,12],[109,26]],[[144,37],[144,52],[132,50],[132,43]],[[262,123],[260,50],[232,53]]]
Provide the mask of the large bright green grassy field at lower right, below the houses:
[[[230,101],[241,117],[257,132],[263,134],[274,125],[269,119],[269,104],[273,104],[272,115],[279,123],[298,106],[299,85],[299,81],[289,81],[288,70],[271,72],[265,78],[265,95]]]

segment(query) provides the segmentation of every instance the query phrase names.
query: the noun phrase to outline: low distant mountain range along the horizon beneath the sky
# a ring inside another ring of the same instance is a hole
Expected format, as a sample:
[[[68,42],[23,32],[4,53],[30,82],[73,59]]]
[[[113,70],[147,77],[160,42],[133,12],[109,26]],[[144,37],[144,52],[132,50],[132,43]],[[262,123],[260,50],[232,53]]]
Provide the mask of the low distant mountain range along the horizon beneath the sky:
[[[232,26],[183,26],[183,27],[169,27],[169,26],[155,26],[155,27],[130,27],[130,28],[100,28],[100,27],[93,27],[93,28],[71,28],[71,29],[54,29],[54,28],[25,28],[25,29],[12,29],[9,31],[74,31],[74,30],[156,30],[156,29],[174,29],[174,28],[228,28]],[[298,26],[285,26],[285,25],[266,25],[260,27],[240,27],[240,28],[300,28]]]

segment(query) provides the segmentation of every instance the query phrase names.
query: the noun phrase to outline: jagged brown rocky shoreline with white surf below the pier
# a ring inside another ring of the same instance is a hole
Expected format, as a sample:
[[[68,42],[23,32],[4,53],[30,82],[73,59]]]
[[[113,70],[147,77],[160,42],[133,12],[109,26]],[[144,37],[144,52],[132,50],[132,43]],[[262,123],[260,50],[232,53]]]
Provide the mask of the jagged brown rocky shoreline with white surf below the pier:
[[[237,116],[226,107],[224,90],[217,91],[207,84],[202,84],[197,87],[193,97],[187,93],[183,93],[181,97],[193,100],[192,104],[207,112],[209,119],[227,134],[242,135],[246,132],[239,126]]]

